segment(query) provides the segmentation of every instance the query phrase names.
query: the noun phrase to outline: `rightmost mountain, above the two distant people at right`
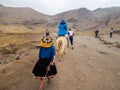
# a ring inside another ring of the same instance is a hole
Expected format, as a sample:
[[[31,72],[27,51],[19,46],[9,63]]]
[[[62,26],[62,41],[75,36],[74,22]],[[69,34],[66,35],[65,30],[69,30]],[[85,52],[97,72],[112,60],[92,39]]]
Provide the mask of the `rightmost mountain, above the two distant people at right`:
[[[120,29],[120,7],[98,8],[93,12],[105,27]]]

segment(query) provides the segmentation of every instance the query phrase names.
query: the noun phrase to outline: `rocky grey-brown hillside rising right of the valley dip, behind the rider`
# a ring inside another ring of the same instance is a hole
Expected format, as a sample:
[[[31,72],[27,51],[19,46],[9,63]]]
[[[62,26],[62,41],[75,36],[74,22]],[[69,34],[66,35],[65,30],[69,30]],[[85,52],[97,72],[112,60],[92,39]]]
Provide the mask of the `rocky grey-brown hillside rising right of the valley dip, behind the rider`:
[[[52,16],[55,22],[59,22],[61,18],[69,23],[70,27],[76,30],[94,30],[98,28],[110,28],[114,27],[120,30],[120,7],[111,8],[98,8],[94,11],[90,11],[86,8],[80,8],[63,12]]]

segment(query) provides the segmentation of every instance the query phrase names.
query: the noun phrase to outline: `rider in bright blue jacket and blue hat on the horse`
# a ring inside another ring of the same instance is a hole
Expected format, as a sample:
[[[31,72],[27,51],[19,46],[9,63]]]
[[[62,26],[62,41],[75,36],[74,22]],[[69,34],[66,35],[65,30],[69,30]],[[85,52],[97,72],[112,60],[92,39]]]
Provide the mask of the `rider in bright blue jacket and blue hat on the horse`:
[[[60,21],[60,24],[58,25],[58,32],[57,32],[58,37],[59,36],[65,36],[67,33],[68,33],[68,25],[65,22],[65,20],[62,19]]]

